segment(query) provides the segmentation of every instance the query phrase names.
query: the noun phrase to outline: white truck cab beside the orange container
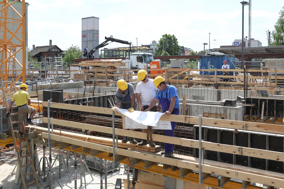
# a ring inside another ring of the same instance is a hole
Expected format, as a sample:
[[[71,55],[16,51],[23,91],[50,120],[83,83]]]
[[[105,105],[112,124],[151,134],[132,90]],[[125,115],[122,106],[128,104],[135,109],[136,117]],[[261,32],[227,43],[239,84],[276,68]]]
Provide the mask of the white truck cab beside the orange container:
[[[150,68],[150,62],[154,61],[153,54],[146,52],[134,52],[130,54],[129,60],[124,60],[126,69],[144,69],[145,65]]]

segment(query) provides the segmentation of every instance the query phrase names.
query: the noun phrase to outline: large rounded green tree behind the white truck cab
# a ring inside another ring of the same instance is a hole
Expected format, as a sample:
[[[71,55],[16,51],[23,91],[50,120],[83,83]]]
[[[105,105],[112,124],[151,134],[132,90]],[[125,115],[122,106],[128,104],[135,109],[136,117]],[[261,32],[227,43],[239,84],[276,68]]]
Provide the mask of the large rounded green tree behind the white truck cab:
[[[167,51],[166,51],[166,44],[167,46]],[[165,53],[163,53],[163,38],[161,38],[156,46],[158,49],[154,52],[155,56],[163,56]],[[167,53],[167,56],[173,56],[173,55],[178,55],[181,54],[180,47],[178,45],[178,39],[176,38],[175,35],[170,35],[170,34],[164,34],[164,50]]]

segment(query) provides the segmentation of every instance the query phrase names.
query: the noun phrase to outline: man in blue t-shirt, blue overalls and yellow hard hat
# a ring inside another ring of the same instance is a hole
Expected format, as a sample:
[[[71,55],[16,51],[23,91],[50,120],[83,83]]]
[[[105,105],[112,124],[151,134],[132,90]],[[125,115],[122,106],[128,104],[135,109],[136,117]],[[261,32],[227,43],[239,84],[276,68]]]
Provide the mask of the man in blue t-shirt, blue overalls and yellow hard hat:
[[[162,76],[158,76],[154,79],[155,88],[158,88],[158,93],[155,98],[149,105],[149,107],[145,111],[150,111],[151,108],[155,106],[155,104],[159,101],[159,105],[157,110],[160,111],[162,108],[163,112],[166,115],[170,114],[179,114],[179,98],[178,98],[178,90],[175,86],[168,85],[165,82],[165,79]],[[172,129],[165,130],[165,136],[174,136],[174,129],[176,127],[177,122],[171,122]],[[174,148],[172,144],[164,143],[165,152],[163,153],[163,157],[168,158],[173,154]],[[162,154],[162,153],[161,153]]]

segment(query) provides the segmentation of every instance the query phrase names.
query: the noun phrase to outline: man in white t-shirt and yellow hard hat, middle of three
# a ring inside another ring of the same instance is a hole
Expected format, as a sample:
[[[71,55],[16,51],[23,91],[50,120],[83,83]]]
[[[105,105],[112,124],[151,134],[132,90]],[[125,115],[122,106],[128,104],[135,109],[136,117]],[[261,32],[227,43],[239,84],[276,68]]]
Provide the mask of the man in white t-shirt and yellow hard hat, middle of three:
[[[154,80],[149,79],[147,72],[143,69],[139,70],[137,73],[138,80],[140,81],[136,85],[135,94],[137,103],[139,105],[139,111],[146,110],[149,105],[151,104],[152,100],[156,96],[156,92],[158,91],[157,88],[155,88]],[[151,108],[151,112],[157,111],[157,103],[154,105],[153,108]],[[147,133],[147,129],[142,129],[143,133]],[[152,129],[152,133],[154,133],[154,130]],[[142,139],[140,143],[138,143],[138,146],[147,145],[147,140]],[[149,144],[151,147],[155,147],[155,143]]]

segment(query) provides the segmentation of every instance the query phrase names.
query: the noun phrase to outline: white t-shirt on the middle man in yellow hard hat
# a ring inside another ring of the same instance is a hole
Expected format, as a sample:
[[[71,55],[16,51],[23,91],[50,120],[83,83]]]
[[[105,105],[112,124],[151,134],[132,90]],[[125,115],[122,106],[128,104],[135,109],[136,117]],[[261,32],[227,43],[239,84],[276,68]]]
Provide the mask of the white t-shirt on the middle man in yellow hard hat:
[[[137,83],[135,93],[141,94],[140,99],[143,106],[149,106],[156,96],[156,90],[158,88],[155,88],[154,80],[149,79],[147,83],[143,83],[142,81]],[[156,105],[158,104],[156,103]]]

